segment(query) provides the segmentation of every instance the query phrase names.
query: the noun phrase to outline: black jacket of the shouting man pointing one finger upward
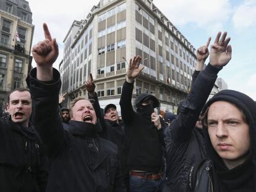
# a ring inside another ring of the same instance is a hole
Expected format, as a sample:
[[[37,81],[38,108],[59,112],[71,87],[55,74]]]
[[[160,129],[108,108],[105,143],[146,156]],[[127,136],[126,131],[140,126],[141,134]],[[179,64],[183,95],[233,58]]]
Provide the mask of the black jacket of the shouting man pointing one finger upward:
[[[35,128],[51,162],[46,191],[125,191],[116,145],[99,138],[92,123],[70,121],[69,125],[62,125],[58,109],[59,72],[54,70],[54,80],[49,82],[35,77],[33,69],[27,83]]]

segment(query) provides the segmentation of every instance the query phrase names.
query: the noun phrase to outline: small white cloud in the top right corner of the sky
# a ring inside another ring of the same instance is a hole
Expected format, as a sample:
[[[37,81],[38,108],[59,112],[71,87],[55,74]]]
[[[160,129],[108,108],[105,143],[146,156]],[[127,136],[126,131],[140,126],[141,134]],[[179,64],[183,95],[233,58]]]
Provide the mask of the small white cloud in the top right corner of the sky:
[[[256,24],[256,1],[245,0],[233,15],[233,25],[237,30],[245,30]]]

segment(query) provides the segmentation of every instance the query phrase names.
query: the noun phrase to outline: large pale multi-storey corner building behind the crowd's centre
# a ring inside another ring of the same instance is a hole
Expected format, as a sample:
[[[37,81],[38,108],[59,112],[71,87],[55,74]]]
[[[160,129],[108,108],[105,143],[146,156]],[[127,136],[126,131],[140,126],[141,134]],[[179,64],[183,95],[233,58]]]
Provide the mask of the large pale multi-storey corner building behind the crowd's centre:
[[[85,95],[84,83],[92,73],[101,107],[113,103],[120,111],[128,62],[135,55],[142,56],[145,69],[134,83],[133,100],[141,93],[153,94],[162,110],[175,111],[186,98],[195,48],[151,0],[101,0],[71,38],[71,45],[64,40],[69,51],[60,67],[61,92],[69,94],[69,101]]]

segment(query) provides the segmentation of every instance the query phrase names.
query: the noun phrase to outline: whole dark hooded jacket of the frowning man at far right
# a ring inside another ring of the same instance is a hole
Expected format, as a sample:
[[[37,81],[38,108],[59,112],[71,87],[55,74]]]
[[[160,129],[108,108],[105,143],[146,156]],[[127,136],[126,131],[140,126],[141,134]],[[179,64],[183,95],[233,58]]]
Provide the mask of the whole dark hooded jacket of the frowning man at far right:
[[[227,101],[242,109],[249,125],[250,151],[245,162],[229,170],[213,149],[207,128],[203,128],[210,159],[195,164],[190,169],[189,191],[252,192],[256,191],[256,104],[249,96],[233,90],[223,90],[205,105],[202,114],[216,101]],[[205,125],[203,125],[205,126]],[[205,175],[205,176],[203,176]]]

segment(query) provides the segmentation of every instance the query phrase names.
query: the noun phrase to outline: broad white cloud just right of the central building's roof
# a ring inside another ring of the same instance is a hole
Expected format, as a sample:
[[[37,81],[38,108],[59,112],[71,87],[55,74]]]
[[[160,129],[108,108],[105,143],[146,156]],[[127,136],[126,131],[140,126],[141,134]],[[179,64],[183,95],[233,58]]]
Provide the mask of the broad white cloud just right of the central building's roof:
[[[205,29],[218,27],[215,31],[222,28],[232,12],[229,0],[157,0],[153,2],[174,25],[194,23],[197,27]]]

